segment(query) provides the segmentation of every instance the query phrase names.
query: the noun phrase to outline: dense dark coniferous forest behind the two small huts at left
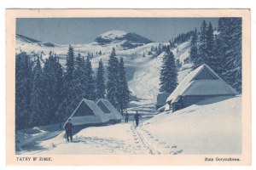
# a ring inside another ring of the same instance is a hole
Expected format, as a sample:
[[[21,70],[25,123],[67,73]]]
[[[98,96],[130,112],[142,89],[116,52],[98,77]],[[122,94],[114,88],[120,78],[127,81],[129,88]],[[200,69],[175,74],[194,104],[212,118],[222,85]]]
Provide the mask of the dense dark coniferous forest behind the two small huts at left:
[[[45,61],[39,55],[33,61],[26,53],[16,55],[16,129],[65,122],[81,99],[107,98],[123,112],[130,95],[124,60],[116,57],[113,48],[106,82],[102,60],[95,74],[91,59],[90,55],[74,54],[72,46],[67,50],[65,68],[53,52]]]

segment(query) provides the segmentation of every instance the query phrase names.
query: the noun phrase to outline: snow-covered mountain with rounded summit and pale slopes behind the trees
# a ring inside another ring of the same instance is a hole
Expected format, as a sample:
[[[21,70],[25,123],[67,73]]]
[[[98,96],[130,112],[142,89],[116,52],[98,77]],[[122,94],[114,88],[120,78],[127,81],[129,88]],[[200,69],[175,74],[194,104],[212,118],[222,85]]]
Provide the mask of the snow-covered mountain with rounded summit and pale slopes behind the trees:
[[[131,47],[124,46],[129,44]],[[32,59],[35,59],[37,54],[42,54],[42,58],[47,59],[49,51],[53,51],[60,59],[61,65],[66,65],[66,55],[68,44],[54,44],[54,46],[42,45],[45,42],[33,40],[29,37],[16,36],[16,54],[26,52]],[[126,31],[108,31],[96,37],[95,42],[86,44],[74,44],[75,55],[81,54],[82,57],[88,53],[93,54],[91,60],[92,67],[96,71],[98,61],[102,59],[103,65],[107,67],[109,55],[112,48],[115,48],[118,57],[123,57],[125,60],[126,79],[133,96],[137,99],[143,99],[145,105],[155,104],[156,96],[159,94],[159,77],[160,66],[162,65],[162,54],[150,54],[152,47],[158,47],[160,42],[152,42],[146,37],[139,36],[135,33]],[[167,45],[168,42],[162,43]],[[172,52],[176,59],[184,63],[184,59],[189,57],[190,42],[183,42],[177,48],[172,48]],[[99,51],[102,54],[99,54]],[[44,65],[44,62],[42,62]],[[191,65],[184,65],[181,71],[178,72],[178,81],[190,71]],[[137,104],[135,104],[137,105]]]

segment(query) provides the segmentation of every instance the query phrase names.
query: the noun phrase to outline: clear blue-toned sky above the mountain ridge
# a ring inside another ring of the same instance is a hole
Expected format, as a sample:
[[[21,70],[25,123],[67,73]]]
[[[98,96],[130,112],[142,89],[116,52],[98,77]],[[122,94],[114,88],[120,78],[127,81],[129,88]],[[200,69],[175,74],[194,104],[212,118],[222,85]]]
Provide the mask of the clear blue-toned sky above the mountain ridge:
[[[93,42],[100,34],[121,30],[154,42],[168,42],[179,33],[200,30],[203,20],[218,26],[218,18],[20,18],[16,33],[42,42],[76,44]]]

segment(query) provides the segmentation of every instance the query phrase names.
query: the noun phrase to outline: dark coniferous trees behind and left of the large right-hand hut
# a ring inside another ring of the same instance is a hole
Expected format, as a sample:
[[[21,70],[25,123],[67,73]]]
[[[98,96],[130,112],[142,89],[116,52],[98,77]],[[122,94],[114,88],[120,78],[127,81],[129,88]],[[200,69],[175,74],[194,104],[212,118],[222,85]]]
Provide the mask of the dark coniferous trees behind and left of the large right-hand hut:
[[[201,64],[209,65],[241,94],[241,18],[219,18],[218,28],[215,31],[212,23],[204,20],[200,31],[195,28],[195,31],[179,35],[170,40],[170,47],[175,48],[189,38],[191,43],[188,59],[194,68]],[[171,68],[166,69],[170,65],[173,65],[172,67],[179,65],[178,60],[173,63],[172,58],[172,52],[170,54],[168,49],[160,71],[160,92],[162,93],[171,94],[175,89],[171,87],[177,86],[177,73],[171,71]],[[169,85],[166,86],[166,83]]]

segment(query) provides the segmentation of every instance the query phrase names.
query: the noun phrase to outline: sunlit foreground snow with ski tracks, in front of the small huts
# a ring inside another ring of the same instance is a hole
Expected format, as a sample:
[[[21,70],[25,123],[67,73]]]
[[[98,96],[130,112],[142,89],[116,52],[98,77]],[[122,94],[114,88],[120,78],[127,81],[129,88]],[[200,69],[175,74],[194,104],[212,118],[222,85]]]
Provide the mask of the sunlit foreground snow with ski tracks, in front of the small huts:
[[[114,132],[114,133],[113,133]],[[73,143],[67,143],[63,133],[40,144],[41,150],[20,154],[172,154],[176,149],[154,137],[134,122],[120,123],[106,127],[89,127],[73,136]]]

